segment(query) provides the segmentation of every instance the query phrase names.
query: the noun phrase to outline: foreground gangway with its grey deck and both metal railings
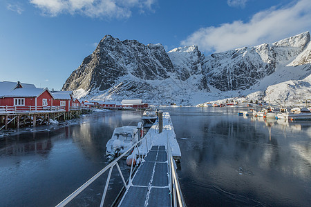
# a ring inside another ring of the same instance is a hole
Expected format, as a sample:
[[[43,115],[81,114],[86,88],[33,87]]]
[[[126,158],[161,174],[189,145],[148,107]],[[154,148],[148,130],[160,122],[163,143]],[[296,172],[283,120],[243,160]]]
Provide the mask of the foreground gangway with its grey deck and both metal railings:
[[[171,121],[169,120],[168,123],[171,123]],[[114,206],[186,206],[176,173],[176,163],[173,159],[171,141],[169,140],[168,133],[165,133],[165,129],[172,130],[172,127],[164,127],[163,132],[159,134],[166,136],[166,143],[164,145],[153,145],[151,141],[152,137],[150,134],[147,136],[147,133],[144,138],[129,148],[129,150],[126,150],[126,152],[75,190],[75,192],[66,197],[57,207],[66,206],[66,204],[77,197],[86,187],[91,185],[93,181],[109,170],[100,202],[100,206],[102,207],[114,167],[117,168],[124,184],[124,192],[120,193],[120,199],[116,199],[120,201],[114,204]],[[147,152],[144,152],[142,148],[147,149]],[[141,164],[138,167],[134,166],[134,159],[132,159],[129,179],[125,181],[118,161],[122,157],[126,157],[131,151],[133,151],[136,157],[139,157]]]

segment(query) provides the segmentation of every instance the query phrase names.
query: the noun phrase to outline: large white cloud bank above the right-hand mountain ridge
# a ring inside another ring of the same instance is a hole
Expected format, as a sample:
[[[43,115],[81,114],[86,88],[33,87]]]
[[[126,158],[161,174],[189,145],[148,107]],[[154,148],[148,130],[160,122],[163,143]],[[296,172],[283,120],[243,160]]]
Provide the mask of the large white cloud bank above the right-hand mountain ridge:
[[[234,21],[200,28],[181,44],[196,44],[205,52],[221,52],[278,41],[310,30],[310,10],[310,0],[300,0],[283,8],[273,7],[254,14],[247,22]]]

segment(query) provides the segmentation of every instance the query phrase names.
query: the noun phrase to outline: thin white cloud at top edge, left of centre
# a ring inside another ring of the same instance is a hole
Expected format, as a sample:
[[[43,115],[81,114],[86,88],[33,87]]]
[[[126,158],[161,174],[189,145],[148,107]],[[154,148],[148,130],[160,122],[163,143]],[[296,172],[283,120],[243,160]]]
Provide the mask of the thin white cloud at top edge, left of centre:
[[[128,18],[133,8],[150,10],[156,0],[30,0],[44,14],[84,14],[88,17]]]

